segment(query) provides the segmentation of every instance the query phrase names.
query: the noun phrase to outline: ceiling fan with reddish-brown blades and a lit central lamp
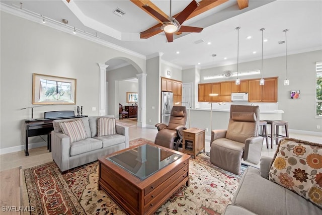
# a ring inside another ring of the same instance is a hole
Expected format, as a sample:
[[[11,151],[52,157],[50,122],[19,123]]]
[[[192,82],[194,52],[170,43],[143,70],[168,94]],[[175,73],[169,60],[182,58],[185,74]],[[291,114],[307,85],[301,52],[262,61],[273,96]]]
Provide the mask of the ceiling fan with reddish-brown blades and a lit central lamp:
[[[201,32],[203,28],[192,27],[192,26],[184,26],[183,22],[190,16],[190,14],[199,6],[195,0],[193,0],[178,16],[171,16],[171,0],[170,0],[170,16],[169,18],[163,16],[162,14],[155,11],[153,8],[148,5],[143,5],[142,7],[152,14],[156,19],[162,22],[162,26],[156,26],[155,28],[148,29],[144,33],[154,32],[159,29],[163,30],[166,34],[168,42],[173,42],[173,34],[174,33],[183,33],[183,32]],[[142,32],[141,32],[142,33]]]

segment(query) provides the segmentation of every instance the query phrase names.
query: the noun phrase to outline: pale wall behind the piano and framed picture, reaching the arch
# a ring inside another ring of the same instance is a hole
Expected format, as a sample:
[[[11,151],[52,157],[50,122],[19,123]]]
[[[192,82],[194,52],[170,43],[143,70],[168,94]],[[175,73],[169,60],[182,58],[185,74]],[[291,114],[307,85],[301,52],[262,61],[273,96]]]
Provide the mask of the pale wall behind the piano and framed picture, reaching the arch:
[[[0,149],[24,144],[23,122],[31,117],[32,74],[74,78],[77,81],[75,105],[34,108],[34,117],[46,111],[75,110],[98,115],[99,66],[115,57],[135,62],[145,71],[145,59],[115,50],[43,24],[1,12],[1,139]],[[96,107],[96,111],[92,111]],[[30,137],[29,143],[40,142]],[[32,146],[31,146],[32,147]]]

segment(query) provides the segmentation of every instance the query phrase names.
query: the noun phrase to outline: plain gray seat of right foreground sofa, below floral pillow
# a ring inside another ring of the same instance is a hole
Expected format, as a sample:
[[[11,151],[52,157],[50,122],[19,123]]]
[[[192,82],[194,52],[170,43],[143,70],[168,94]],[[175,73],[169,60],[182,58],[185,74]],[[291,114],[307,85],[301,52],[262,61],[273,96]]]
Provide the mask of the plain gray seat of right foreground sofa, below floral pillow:
[[[232,203],[261,215],[321,214],[321,210],[296,193],[260,176],[249,166],[232,198]]]

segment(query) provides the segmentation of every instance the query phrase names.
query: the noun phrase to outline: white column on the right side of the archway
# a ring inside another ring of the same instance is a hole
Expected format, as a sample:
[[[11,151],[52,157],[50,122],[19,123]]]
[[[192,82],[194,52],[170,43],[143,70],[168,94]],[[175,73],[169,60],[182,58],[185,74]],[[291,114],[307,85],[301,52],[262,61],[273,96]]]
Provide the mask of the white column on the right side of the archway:
[[[138,74],[138,108],[137,108],[137,125],[146,126],[146,75]]]

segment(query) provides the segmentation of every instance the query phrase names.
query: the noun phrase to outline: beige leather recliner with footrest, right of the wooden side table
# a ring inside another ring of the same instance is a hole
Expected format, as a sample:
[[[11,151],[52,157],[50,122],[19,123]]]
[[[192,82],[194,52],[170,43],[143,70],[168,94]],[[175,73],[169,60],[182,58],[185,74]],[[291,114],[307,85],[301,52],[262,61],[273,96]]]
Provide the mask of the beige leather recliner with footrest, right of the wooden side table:
[[[259,106],[231,105],[227,130],[212,130],[210,162],[239,174],[241,158],[258,164],[264,138],[259,136]]]

